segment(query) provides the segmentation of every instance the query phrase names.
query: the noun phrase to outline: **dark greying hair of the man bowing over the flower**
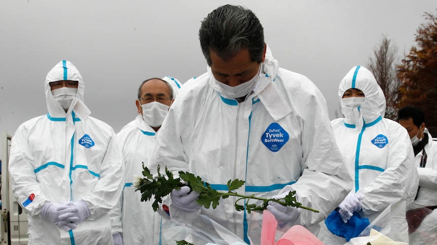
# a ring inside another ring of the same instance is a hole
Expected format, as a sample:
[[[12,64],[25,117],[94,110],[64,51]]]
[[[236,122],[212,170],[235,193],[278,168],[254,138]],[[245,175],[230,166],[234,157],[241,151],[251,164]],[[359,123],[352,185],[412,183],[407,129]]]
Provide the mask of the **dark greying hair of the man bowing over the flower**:
[[[251,10],[241,6],[224,5],[208,14],[200,26],[199,40],[209,66],[210,51],[226,61],[248,48],[252,61],[263,60],[264,28]]]

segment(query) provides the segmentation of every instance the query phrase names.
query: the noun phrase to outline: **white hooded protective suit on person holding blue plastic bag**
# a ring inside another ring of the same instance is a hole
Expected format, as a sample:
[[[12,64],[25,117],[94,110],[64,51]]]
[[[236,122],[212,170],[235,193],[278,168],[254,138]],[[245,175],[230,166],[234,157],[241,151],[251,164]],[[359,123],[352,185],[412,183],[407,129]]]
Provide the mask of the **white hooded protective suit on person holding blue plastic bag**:
[[[357,88],[365,95],[359,108],[346,107],[344,92]],[[374,221],[387,207],[388,233],[395,241],[408,242],[406,206],[414,200],[418,175],[414,154],[406,129],[383,118],[385,97],[373,74],[364,67],[353,67],[340,82],[338,95],[345,118],[331,122],[346,165],[354,179],[353,191],[362,195],[361,217]],[[332,234],[324,222],[319,239],[326,244],[344,244],[346,240]],[[391,227],[390,227],[391,225]]]

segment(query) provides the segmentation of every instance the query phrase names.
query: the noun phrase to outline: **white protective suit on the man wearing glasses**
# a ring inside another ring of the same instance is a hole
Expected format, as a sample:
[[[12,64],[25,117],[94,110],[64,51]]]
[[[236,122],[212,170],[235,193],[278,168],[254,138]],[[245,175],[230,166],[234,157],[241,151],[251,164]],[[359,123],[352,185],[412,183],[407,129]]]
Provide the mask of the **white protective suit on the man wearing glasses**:
[[[173,97],[181,84],[172,77],[164,77],[173,88]],[[159,132],[159,131],[158,131]],[[152,201],[140,202],[141,192],[131,187],[132,176],[142,175],[142,164],[149,167],[155,145],[155,130],[144,122],[141,115],[117,133],[115,144],[123,154],[124,189],[118,205],[110,212],[113,234],[123,234],[123,244],[161,244],[161,228],[165,220],[153,211]],[[167,224],[168,225],[168,224]],[[165,226],[164,226],[165,227]],[[172,241],[174,244],[174,241]]]

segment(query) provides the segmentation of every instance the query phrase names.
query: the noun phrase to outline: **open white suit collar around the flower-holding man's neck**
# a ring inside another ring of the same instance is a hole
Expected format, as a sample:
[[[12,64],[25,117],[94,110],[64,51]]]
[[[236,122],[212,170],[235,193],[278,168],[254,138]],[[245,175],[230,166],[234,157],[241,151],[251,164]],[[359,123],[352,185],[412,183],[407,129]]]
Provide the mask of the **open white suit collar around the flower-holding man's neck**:
[[[279,63],[273,58],[269,46],[266,46],[266,58],[264,59],[264,62],[261,64],[261,66],[262,71],[258,74],[258,81],[255,83],[251,94],[246,98],[246,100],[258,96],[261,103],[263,103],[273,119],[279,120],[285,115],[292,112],[292,108],[285,103],[285,100],[278,91],[278,88],[272,82],[275,79],[276,74],[278,73]],[[215,83],[215,78],[212,75],[211,67],[208,66],[207,71],[209,76],[209,85],[214,90],[219,92],[222,97],[235,100],[234,98],[226,94],[221,86],[218,86]]]

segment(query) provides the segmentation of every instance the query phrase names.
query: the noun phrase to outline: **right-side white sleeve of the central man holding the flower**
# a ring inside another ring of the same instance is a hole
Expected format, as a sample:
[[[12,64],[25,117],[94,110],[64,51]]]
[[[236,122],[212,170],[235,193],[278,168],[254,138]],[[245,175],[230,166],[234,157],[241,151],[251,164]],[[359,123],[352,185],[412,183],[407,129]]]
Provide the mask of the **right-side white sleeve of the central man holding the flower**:
[[[296,190],[302,205],[320,211],[302,209],[295,224],[311,226],[329,215],[352,188],[352,178],[344,164],[343,156],[335,141],[326,103],[318,89],[307,101],[308,107],[297,108],[302,117],[302,168],[303,173],[293,185],[285,186],[280,193]]]

